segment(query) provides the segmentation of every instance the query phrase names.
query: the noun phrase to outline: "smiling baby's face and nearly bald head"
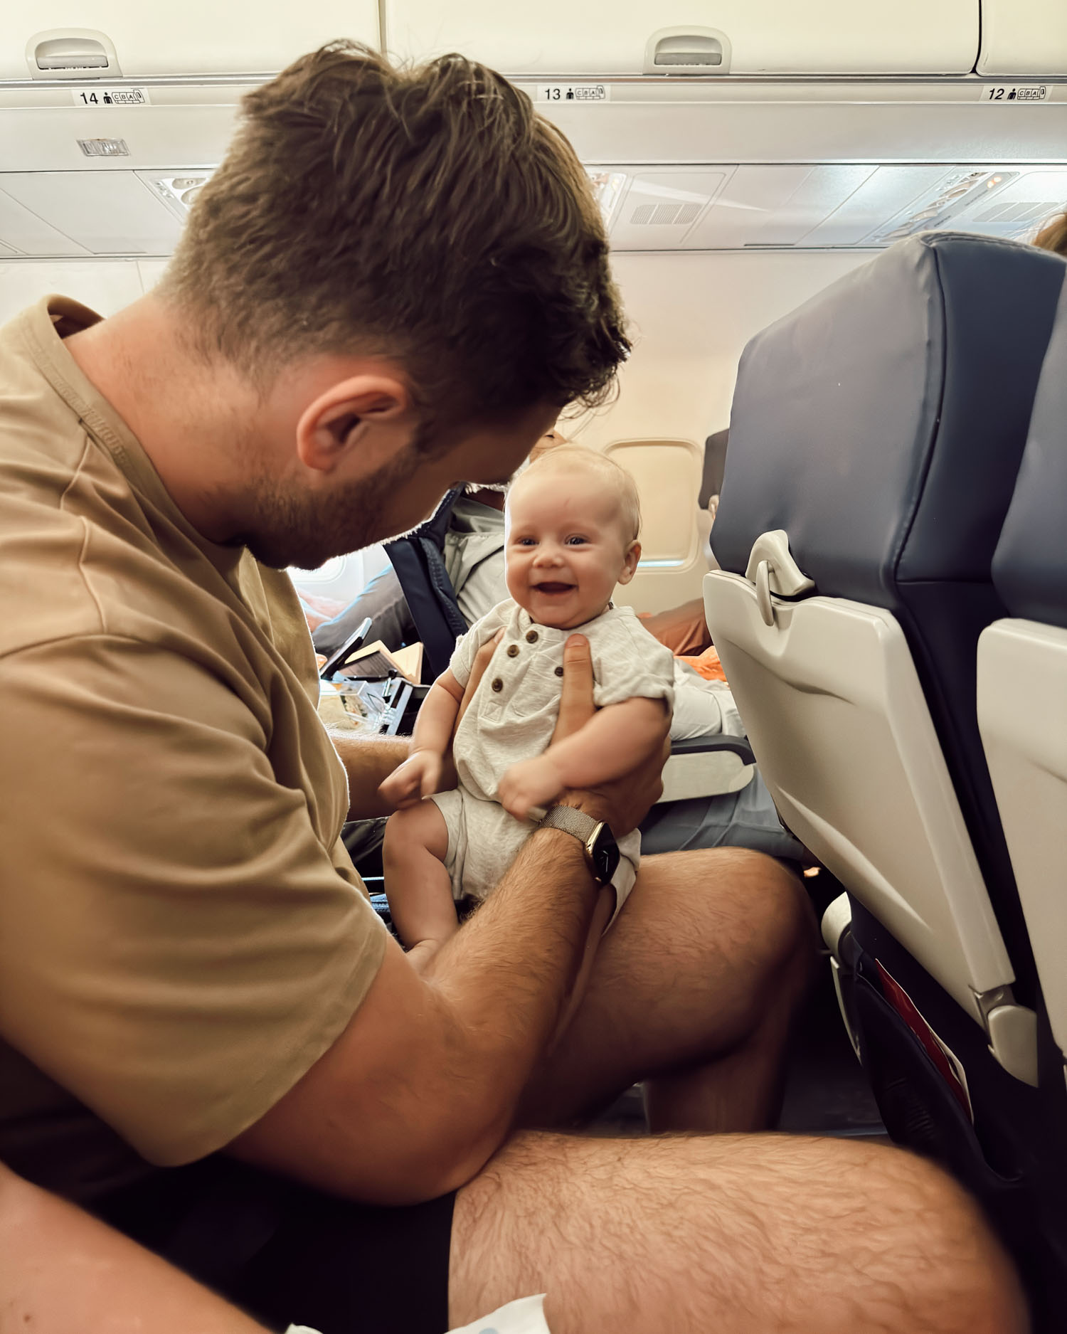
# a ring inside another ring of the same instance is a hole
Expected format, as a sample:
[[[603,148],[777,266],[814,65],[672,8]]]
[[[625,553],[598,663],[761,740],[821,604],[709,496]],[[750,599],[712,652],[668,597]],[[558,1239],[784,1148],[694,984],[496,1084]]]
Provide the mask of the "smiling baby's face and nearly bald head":
[[[546,468],[516,482],[505,534],[508,592],[534,620],[558,630],[599,616],[640,555],[623,531],[614,488],[582,471]]]

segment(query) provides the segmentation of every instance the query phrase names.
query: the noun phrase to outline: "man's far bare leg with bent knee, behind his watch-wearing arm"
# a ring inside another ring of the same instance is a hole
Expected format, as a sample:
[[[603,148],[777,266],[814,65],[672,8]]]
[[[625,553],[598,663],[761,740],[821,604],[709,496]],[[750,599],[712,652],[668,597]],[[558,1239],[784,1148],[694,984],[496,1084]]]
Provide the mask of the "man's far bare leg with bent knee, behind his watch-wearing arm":
[[[574,1125],[646,1079],[654,1131],[770,1126],[815,958],[807,895],[771,858],[647,858],[578,1014],[531,1083],[523,1123]]]

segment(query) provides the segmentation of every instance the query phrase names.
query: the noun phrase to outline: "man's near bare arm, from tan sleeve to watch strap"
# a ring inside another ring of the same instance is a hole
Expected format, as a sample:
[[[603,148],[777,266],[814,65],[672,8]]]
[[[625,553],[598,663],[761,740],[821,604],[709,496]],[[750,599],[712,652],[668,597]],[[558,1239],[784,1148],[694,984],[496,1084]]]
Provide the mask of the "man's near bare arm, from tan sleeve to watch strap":
[[[599,892],[572,835],[534,834],[423,966],[387,944],[348,1027],[233,1153],[383,1205],[471,1181],[554,1037]]]

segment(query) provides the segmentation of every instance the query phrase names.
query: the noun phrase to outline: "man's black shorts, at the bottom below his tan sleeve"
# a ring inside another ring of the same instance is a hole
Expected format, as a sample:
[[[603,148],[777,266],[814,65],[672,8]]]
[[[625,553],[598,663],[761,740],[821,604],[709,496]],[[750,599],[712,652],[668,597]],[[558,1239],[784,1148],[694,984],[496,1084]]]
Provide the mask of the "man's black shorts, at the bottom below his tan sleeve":
[[[444,1334],[453,1202],[356,1205],[213,1155],[93,1209],[268,1329]]]

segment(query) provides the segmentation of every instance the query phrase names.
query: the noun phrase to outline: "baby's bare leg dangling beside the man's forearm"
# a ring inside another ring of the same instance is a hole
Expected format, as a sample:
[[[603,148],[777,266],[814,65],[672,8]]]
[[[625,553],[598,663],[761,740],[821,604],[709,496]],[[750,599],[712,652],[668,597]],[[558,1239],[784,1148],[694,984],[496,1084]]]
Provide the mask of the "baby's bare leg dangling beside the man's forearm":
[[[459,928],[447,855],[448,826],[436,802],[419,802],[389,816],[381,848],[385,895],[396,932],[416,967]]]

